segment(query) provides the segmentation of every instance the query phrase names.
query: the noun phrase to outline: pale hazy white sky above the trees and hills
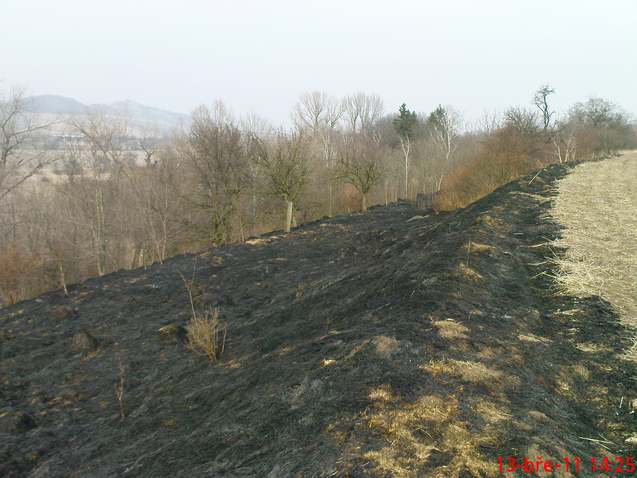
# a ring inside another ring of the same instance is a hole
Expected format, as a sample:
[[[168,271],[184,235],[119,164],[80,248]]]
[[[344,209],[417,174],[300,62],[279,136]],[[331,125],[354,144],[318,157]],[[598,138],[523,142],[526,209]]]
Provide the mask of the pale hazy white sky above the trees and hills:
[[[0,0],[0,80],[187,113],[223,99],[282,122],[304,91],[467,117],[590,94],[637,112],[637,1]]]

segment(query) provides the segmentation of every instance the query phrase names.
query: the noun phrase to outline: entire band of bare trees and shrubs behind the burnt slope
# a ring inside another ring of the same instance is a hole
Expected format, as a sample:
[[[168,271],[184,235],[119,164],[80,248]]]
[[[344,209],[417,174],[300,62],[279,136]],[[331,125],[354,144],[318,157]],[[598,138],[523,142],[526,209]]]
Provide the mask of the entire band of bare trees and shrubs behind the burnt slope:
[[[125,111],[46,121],[4,92],[0,300],[418,193],[464,206],[549,163],[637,146],[618,106],[590,98],[558,118],[552,93],[467,125],[450,106],[386,114],[376,95],[308,92],[290,131],[217,101],[158,133]]]

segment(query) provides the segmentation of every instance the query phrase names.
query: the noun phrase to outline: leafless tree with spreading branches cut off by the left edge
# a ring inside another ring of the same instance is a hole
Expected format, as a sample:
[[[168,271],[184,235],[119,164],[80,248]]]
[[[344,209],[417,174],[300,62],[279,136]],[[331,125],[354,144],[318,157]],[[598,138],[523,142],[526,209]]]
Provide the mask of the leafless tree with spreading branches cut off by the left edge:
[[[38,119],[24,88],[0,91],[0,200],[59,159],[46,144],[54,124]]]

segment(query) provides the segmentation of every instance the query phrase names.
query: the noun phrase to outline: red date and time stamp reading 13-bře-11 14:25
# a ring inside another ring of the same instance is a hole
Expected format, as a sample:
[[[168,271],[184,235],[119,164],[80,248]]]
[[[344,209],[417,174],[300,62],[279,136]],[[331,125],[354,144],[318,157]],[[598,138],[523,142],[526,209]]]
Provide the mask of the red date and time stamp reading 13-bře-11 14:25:
[[[566,472],[579,472],[580,467],[584,467],[585,463],[580,465],[580,458],[562,458],[561,462],[553,463],[550,460],[544,460],[543,456],[538,456],[535,460],[524,457],[524,460],[516,460],[512,456],[508,458],[498,458],[497,463],[500,467],[500,472],[547,472],[551,473],[558,470],[564,470]],[[612,458],[591,458],[590,467],[593,472],[633,472],[635,470],[635,458],[629,456],[628,458],[617,457],[615,460]]]

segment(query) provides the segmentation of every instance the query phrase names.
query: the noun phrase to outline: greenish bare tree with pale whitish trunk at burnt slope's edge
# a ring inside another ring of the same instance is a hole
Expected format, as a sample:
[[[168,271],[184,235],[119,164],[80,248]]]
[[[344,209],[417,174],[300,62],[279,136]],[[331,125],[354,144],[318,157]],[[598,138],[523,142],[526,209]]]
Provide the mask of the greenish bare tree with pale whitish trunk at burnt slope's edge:
[[[294,203],[303,194],[310,177],[308,140],[297,133],[278,131],[273,141],[255,138],[255,161],[265,177],[263,194],[285,202],[285,232],[292,227]]]

